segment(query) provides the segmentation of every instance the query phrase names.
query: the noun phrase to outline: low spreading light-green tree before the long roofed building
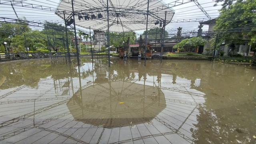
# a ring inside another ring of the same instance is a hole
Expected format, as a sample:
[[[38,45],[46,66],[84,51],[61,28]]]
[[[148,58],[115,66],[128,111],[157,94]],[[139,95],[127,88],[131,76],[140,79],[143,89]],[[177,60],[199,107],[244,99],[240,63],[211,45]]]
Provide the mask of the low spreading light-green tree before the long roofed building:
[[[199,46],[203,46],[207,41],[204,40],[202,37],[193,37],[193,38],[186,38],[176,44],[173,48],[184,48],[185,51],[191,52],[195,50],[195,48],[198,48]]]

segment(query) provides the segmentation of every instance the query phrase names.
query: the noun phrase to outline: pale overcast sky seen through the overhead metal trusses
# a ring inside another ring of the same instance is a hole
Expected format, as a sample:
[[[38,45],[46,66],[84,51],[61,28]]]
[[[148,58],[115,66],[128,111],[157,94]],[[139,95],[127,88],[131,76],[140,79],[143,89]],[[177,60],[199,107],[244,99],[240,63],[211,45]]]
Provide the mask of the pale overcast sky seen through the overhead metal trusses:
[[[20,1],[20,0],[16,0]],[[164,0],[165,3],[173,2],[174,0]],[[189,0],[184,0],[189,1]],[[14,18],[16,19],[16,14],[10,5],[10,0],[1,0],[0,1],[0,17],[6,18]],[[24,2],[31,3],[31,4],[38,4],[41,6],[57,8],[59,0],[26,0]],[[216,18],[219,15],[218,10],[221,6],[213,6],[215,4],[212,0],[198,0],[198,3],[204,8],[210,18]],[[45,8],[46,8],[45,7]],[[43,7],[44,8],[44,7]],[[51,21],[51,22],[58,22],[64,25],[63,20],[54,14],[54,11],[50,10],[38,10],[35,8],[26,8],[17,6],[14,4],[14,9],[19,18],[26,17],[29,21]],[[182,32],[189,32],[189,31],[197,31],[199,22],[192,22],[194,20],[207,20],[208,17],[196,6],[194,2],[189,2],[186,4],[182,4],[180,6],[174,6],[173,9],[175,10],[175,14],[172,18],[173,22],[166,26],[166,30],[170,33],[175,33],[178,27],[182,27]],[[177,21],[186,21],[190,20],[191,22],[177,22]],[[33,29],[42,29],[34,27]],[[203,31],[207,31],[208,26],[203,27]],[[88,31],[88,30],[85,30]],[[142,34],[144,30],[136,31],[138,34]]]

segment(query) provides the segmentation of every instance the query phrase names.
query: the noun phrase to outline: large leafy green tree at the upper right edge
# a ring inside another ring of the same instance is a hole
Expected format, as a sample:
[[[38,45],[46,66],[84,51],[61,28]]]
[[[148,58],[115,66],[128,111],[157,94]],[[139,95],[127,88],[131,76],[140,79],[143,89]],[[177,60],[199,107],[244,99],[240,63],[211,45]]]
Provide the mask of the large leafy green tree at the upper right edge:
[[[221,14],[216,18],[216,30],[222,30],[218,34],[216,48],[225,42],[226,46],[230,46],[234,50],[235,45],[244,44],[244,40],[249,40],[248,44],[256,41],[256,32],[254,24],[256,22],[256,1],[255,0],[216,0],[216,2],[224,2]],[[240,32],[230,32],[235,28],[249,28]],[[249,32],[248,32],[249,31]],[[216,36],[213,38],[215,45]],[[254,47],[252,47],[254,49]]]

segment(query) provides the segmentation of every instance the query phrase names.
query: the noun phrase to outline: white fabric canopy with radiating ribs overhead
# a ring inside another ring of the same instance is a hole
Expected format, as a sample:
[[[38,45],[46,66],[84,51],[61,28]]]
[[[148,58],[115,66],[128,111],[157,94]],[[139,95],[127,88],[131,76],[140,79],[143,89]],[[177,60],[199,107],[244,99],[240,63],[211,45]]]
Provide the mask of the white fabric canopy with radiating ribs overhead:
[[[174,0],[173,0],[174,1]],[[73,0],[75,24],[83,28],[106,31],[107,22],[107,0]],[[146,29],[146,14],[148,0],[109,0],[109,26],[110,32],[126,32]],[[66,20],[72,18],[72,1],[61,0],[56,14]],[[164,4],[162,0],[150,0],[148,29],[160,26],[163,23],[166,12],[166,24],[174,15],[174,10],[169,4]],[[98,18],[98,15],[102,18]],[[95,19],[92,16],[96,16]],[[78,19],[80,17],[80,20]],[[85,19],[88,16],[89,20]],[[159,24],[155,25],[155,22]]]

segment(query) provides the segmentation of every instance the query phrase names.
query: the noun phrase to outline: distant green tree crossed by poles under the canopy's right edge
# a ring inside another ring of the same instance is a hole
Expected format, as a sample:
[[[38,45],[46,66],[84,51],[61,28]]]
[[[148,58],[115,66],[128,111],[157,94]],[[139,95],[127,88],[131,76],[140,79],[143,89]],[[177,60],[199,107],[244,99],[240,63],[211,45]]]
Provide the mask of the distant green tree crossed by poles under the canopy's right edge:
[[[143,36],[145,38],[146,36],[146,30],[143,32]],[[164,37],[168,37],[168,32],[165,30],[164,31]],[[152,28],[148,30],[148,39],[150,40],[158,40],[158,42],[162,38],[162,28]]]

